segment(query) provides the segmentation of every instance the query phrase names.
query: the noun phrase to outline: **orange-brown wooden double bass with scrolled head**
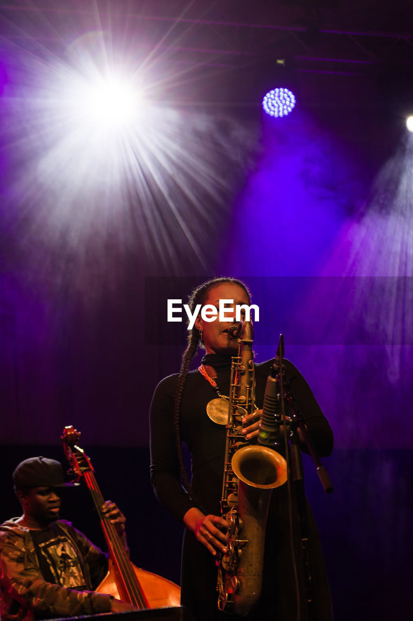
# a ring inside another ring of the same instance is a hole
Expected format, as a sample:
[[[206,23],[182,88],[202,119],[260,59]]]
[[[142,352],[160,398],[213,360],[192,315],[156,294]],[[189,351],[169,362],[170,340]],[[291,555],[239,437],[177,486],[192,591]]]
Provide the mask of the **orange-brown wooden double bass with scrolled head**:
[[[81,434],[74,427],[64,427],[61,441],[64,455],[71,465],[71,471],[78,481],[83,478],[100,517],[107,548],[109,551],[109,571],[96,591],[109,593],[123,602],[129,602],[137,609],[160,608],[180,605],[180,588],[150,571],[133,565],[122,545],[116,528],[102,513],[103,496],[95,479],[91,460],[78,446]]]

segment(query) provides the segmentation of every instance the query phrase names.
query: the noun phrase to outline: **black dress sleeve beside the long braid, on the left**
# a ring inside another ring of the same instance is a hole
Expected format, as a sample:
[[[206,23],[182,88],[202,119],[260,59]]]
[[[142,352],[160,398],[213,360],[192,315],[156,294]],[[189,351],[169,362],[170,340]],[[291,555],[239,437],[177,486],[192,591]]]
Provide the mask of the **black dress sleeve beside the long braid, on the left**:
[[[187,510],[195,505],[180,483],[173,425],[176,379],[177,376],[162,379],[151,402],[151,483],[159,502],[182,522]]]

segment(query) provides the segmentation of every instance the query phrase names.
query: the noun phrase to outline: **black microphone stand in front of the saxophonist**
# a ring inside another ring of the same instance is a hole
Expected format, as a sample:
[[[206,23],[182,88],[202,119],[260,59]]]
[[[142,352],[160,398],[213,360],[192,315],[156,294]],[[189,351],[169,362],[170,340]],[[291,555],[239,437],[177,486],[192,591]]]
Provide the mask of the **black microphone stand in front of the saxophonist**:
[[[280,342],[277,348],[277,355],[275,358],[275,363],[272,369],[272,379],[273,376],[278,376],[278,388],[280,389],[279,395],[279,404],[278,404],[278,412],[282,411],[282,422],[286,424],[285,418],[285,400],[288,403],[291,413],[291,421],[289,423],[290,426],[290,452],[291,452],[291,478],[294,482],[296,499],[297,499],[297,508],[298,508],[298,517],[300,524],[300,537],[301,537],[301,551],[302,551],[302,560],[303,560],[303,568],[304,568],[304,576],[306,580],[306,600],[308,603],[308,618],[309,621],[317,621],[317,613],[316,606],[314,601],[314,581],[313,581],[313,573],[311,569],[311,559],[309,555],[309,529],[308,529],[308,517],[307,517],[307,506],[306,506],[306,496],[304,492],[304,469],[303,469],[303,458],[301,455],[301,442],[305,442],[308,446],[309,453],[313,458],[314,464],[316,465],[317,473],[319,479],[321,481],[324,490],[327,494],[331,494],[333,491],[333,486],[331,484],[329,475],[327,474],[326,468],[322,466],[318,452],[313,442],[313,438],[308,431],[303,415],[301,414],[300,408],[296,402],[295,396],[290,388],[290,382],[285,374],[285,369],[283,367],[283,357],[284,357],[284,335],[280,334]],[[271,376],[269,380],[271,379]],[[264,398],[265,401],[265,398]],[[263,407],[265,410],[265,407]],[[264,415],[264,411],[263,411]],[[277,411],[274,410],[275,418],[277,418]],[[300,434],[298,433],[300,431]],[[298,602],[298,606],[300,606],[300,602]]]

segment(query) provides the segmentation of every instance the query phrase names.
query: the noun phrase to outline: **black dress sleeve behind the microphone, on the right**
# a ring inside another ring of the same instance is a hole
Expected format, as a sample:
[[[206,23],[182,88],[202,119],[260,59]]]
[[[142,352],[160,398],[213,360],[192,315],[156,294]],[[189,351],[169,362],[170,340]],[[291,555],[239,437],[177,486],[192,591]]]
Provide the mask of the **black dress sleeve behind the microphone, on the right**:
[[[328,420],[316,401],[316,397],[313,395],[313,391],[311,391],[300,371],[289,360],[285,360],[285,369],[291,392],[300,408],[319,456],[331,455],[334,445],[333,433]],[[308,453],[306,444],[302,448],[304,452]]]

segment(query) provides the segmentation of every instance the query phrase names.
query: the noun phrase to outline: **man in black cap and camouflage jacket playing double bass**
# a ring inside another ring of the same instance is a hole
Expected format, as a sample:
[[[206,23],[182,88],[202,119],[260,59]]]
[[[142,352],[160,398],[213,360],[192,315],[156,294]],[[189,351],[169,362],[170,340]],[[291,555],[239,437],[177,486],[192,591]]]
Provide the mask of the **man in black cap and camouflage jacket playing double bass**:
[[[94,592],[107,573],[107,556],[70,522],[60,519],[63,468],[33,457],[13,473],[23,514],[0,525],[0,616],[31,621],[135,610],[109,594]],[[127,550],[125,517],[107,501],[102,512]]]

